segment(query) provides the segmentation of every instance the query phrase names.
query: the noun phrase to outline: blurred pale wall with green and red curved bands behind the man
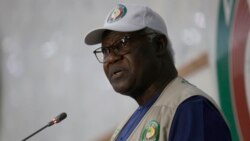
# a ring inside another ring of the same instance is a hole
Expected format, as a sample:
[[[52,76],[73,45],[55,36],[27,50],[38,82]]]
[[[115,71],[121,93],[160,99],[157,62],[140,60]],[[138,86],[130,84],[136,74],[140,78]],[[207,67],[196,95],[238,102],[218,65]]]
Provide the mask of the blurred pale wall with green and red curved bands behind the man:
[[[250,0],[0,0],[0,140],[106,141],[137,108],[113,91],[84,36],[120,2],[165,19],[180,75],[212,96],[233,140],[250,140]]]

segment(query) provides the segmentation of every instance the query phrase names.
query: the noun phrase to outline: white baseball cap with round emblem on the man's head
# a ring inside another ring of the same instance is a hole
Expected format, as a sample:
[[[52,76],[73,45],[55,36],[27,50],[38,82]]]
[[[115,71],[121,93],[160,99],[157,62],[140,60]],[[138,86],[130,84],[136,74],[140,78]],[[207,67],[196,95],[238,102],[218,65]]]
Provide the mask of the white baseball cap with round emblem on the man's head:
[[[102,34],[106,30],[133,32],[146,27],[168,37],[164,20],[149,7],[133,4],[118,4],[108,14],[103,27],[94,29],[86,35],[85,43],[88,45],[101,43]]]

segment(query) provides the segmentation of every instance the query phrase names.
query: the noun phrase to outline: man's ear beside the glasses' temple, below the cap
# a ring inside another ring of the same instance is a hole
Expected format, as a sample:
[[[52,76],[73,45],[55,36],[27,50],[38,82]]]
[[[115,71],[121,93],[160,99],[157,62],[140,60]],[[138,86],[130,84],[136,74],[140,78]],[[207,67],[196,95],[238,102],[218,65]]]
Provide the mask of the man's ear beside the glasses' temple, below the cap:
[[[168,40],[164,35],[157,35],[154,38],[155,51],[157,56],[164,56],[167,53]]]

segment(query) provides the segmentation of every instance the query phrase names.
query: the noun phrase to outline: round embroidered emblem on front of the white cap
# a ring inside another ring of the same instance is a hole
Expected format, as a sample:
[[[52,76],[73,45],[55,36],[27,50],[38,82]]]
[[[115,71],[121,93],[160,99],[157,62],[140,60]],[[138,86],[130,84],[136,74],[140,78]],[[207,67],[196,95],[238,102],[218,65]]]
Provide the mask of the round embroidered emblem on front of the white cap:
[[[123,18],[126,15],[126,13],[127,13],[127,8],[124,5],[119,4],[109,15],[107,22],[113,23],[115,21],[118,21],[121,18]]]

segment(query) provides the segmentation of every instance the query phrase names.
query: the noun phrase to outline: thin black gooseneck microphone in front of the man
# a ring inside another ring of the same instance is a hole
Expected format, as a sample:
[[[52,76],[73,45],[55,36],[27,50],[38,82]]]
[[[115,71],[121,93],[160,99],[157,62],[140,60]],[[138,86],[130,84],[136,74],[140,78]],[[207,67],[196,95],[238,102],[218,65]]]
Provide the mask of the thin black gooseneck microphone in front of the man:
[[[54,124],[57,124],[59,122],[61,122],[62,120],[64,120],[67,117],[66,113],[61,113],[60,115],[56,116],[55,118],[53,118],[47,125],[43,126],[41,129],[37,130],[36,132],[34,132],[33,134],[29,135],[28,137],[24,138],[22,141],[26,141],[28,140],[30,137],[34,136],[35,134],[39,133],[40,131],[42,131],[43,129],[50,127]]]

